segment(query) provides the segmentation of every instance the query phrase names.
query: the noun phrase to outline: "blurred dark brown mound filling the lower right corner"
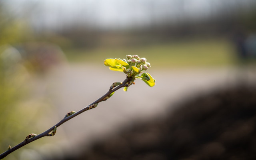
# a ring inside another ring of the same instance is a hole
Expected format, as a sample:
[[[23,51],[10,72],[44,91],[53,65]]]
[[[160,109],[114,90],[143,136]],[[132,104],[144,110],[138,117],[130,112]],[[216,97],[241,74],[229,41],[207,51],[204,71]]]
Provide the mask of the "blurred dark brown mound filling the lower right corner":
[[[256,88],[186,101],[165,118],[136,123],[67,159],[256,160]]]

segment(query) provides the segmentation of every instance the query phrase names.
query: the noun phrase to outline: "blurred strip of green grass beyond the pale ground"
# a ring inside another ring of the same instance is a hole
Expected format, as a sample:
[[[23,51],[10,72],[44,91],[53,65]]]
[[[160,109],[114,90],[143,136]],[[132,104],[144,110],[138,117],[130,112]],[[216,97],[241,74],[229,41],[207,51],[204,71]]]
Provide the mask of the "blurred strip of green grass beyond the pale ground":
[[[72,49],[64,51],[71,62],[100,63],[98,57],[120,57],[137,54],[147,57],[157,67],[211,67],[234,64],[234,49],[224,38],[187,39],[133,48],[97,48],[95,50]]]

